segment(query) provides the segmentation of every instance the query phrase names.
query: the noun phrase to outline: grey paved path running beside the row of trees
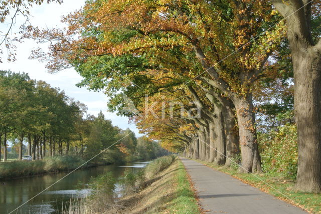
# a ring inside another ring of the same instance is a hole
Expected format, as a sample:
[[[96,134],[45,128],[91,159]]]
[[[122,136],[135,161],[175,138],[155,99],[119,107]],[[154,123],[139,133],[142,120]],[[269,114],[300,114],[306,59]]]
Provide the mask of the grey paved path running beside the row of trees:
[[[228,174],[181,158],[207,213],[307,213]]]

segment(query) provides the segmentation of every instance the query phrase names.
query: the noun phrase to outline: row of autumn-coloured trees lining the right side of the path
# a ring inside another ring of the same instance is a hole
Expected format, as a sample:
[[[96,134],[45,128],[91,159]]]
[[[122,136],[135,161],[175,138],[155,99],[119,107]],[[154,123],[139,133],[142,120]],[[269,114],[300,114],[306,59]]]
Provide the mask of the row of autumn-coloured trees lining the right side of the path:
[[[253,96],[294,73],[297,187],[321,191],[319,0],[91,0],[64,21],[30,29],[52,42],[34,57],[76,67],[165,146],[227,165],[240,152],[246,172],[261,170]]]

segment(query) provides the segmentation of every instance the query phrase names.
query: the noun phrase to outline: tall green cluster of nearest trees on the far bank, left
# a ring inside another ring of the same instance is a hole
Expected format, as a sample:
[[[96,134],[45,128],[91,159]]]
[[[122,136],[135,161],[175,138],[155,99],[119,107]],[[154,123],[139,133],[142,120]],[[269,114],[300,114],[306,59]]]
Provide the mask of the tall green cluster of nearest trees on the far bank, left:
[[[84,104],[44,81],[30,79],[26,73],[4,70],[0,73],[0,96],[0,141],[4,146],[4,161],[7,160],[8,138],[19,140],[19,159],[25,140],[33,159],[46,155],[47,144],[53,155],[52,146],[58,145],[61,154],[62,144],[66,142],[68,153],[68,143],[85,112]]]

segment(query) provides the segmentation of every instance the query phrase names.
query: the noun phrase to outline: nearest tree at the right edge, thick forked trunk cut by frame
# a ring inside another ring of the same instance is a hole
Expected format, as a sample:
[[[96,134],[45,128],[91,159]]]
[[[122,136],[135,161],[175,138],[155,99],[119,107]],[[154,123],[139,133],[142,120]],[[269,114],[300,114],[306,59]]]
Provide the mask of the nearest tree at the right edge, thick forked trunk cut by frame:
[[[321,192],[321,39],[319,0],[271,0],[285,17],[294,72],[298,132],[297,188]],[[316,25],[317,26],[317,25]]]

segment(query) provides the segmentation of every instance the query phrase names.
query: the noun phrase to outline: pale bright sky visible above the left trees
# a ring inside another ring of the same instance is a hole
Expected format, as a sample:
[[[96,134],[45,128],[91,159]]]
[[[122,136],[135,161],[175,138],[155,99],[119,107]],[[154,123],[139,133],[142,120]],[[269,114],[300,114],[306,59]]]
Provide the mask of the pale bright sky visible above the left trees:
[[[61,17],[70,12],[80,9],[85,4],[85,0],[64,0],[62,4],[50,3],[43,5],[35,5],[31,8],[30,22],[34,26],[41,27],[63,27],[60,22]],[[10,19],[10,18],[9,18]],[[9,21],[8,19],[8,21]],[[18,17],[16,27],[23,21],[22,17]],[[8,25],[7,25],[8,26]],[[6,25],[0,25],[1,28]],[[16,30],[14,30],[16,31]],[[140,136],[135,124],[128,123],[127,117],[117,116],[116,113],[107,111],[108,97],[103,92],[89,91],[86,88],[79,88],[75,84],[80,82],[82,77],[73,69],[66,69],[58,73],[49,73],[45,68],[46,62],[40,62],[37,59],[29,59],[31,50],[38,47],[34,40],[28,39],[17,45],[17,60],[8,62],[3,56],[3,63],[0,63],[0,69],[11,70],[14,72],[29,73],[32,79],[44,80],[53,87],[59,87],[65,90],[66,94],[76,100],[85,103],[88,106],[87,113],[97,116],[100,110],[105,114],[107,119],[112,120],[113,125],[125,129],[130,128],[135,132],[136,136]]]

